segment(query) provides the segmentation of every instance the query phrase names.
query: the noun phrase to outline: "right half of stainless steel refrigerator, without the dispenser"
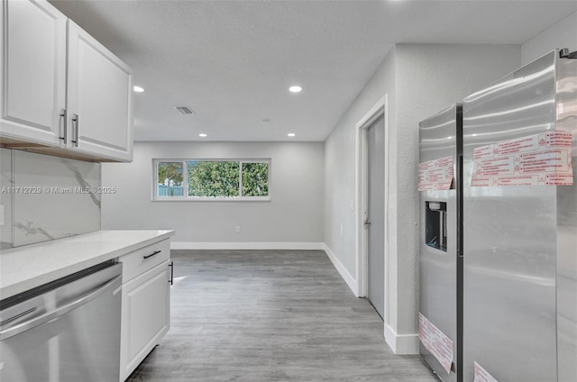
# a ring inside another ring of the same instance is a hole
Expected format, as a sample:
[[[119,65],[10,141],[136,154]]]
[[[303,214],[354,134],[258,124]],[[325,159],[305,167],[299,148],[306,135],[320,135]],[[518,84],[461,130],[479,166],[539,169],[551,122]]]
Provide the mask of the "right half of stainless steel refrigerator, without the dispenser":
[[[577,59],[566,56],[463,100],[465,382],[577,381]]]

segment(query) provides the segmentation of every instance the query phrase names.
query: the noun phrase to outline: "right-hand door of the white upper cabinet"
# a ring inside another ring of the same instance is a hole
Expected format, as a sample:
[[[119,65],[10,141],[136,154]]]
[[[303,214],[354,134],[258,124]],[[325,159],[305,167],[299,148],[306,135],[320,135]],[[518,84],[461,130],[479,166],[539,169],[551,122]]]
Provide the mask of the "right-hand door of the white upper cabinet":
[[[68,105],[76,150],[132,160],[132,70],[70,20]]]

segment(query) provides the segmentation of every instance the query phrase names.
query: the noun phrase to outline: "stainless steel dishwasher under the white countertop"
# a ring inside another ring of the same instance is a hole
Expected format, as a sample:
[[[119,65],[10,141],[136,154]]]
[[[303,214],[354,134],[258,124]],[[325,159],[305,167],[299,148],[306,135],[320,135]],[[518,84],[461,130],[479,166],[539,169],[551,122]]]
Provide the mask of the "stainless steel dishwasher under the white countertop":
[[[118,381],[121,272],[110,261],[0,301],[0,381]]]

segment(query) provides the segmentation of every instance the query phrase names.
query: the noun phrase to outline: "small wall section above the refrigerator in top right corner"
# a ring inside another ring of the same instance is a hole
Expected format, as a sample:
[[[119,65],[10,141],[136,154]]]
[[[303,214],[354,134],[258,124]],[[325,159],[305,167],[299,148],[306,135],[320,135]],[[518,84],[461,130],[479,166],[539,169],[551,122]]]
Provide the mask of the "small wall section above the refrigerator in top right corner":
[[[555,48],[568,48],[570,52],[577,50],[577,12],[521,45],[522,65]]]

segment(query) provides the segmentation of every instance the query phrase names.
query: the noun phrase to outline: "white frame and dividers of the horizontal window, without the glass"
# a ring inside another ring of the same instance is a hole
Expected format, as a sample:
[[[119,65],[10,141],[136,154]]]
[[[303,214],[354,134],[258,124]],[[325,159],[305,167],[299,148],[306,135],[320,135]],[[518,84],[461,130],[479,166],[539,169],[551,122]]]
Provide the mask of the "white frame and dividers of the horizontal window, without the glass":
[[[238,162],[239,163],[239,194],[243,193],[243,163],[267,163],[269,165],[268,196],[188,196],[188,162]],[[182,163],[182,196],[159,196],[159,163]],[[271,200],[270,174],[272,160],[264,159],[152,159],[152,201],[154,202],[268,202]]]

